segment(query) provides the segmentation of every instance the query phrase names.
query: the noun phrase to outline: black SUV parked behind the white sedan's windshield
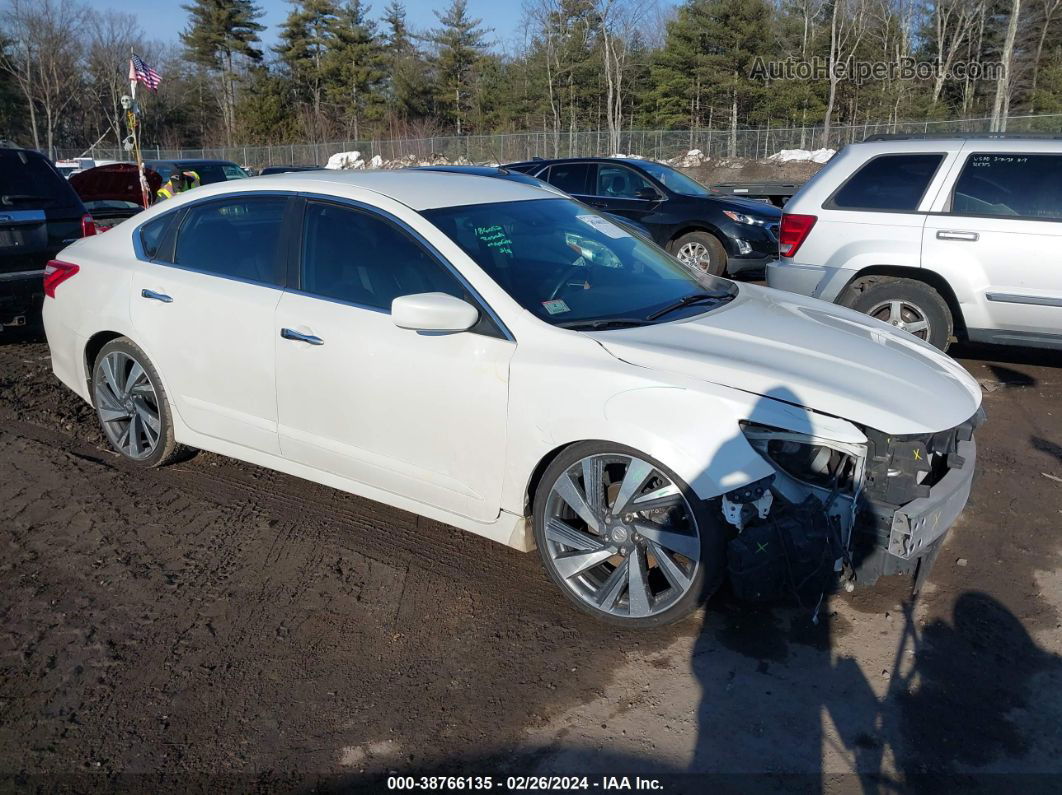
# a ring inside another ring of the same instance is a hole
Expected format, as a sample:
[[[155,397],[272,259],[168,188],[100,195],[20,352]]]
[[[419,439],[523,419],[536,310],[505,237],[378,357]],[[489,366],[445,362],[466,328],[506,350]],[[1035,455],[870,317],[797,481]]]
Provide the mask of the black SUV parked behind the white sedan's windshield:
[[[766,202],[721,197],[653,160],[580,157],[504,167],[544,179],[581,202],[647,227],[683,262],[713,274],[760,271],[778,253],[782,211]]]

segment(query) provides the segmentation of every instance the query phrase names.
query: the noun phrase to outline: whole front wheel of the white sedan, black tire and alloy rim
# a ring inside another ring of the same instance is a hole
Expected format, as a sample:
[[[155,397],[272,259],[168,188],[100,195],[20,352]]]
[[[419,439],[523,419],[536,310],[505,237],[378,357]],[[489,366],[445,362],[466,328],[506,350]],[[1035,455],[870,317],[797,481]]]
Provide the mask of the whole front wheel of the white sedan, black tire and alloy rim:
[[[623,496],[629,473],[631,494]],[[599,488],[587,491],[587,477]],[[627,509],[613,517],[621,497]],[[653,507],[631,511],[639,499]],[[571,507],[580,501],[597,530]],[[546,573],[577,608],[601,621],[631,628],[670,624],[722,582],[721,522],[681,478],[632,448],[607,442],[568,447],[543,473],[533,512]]]

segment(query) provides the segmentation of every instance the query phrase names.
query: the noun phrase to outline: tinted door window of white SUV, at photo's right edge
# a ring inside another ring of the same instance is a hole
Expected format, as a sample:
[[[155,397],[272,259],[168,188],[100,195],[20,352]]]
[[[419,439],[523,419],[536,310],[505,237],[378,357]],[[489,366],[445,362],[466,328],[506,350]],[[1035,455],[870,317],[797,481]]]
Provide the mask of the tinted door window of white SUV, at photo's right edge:
[[[952,211],[1062,220],[1062,155],[971,155],[955,185]]]

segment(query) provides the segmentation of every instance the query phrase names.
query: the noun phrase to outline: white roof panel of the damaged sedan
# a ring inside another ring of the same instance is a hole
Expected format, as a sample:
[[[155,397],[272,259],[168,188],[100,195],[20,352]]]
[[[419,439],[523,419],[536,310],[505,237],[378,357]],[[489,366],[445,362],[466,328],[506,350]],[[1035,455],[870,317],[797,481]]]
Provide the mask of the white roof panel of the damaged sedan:
[[[533,185],[473,174],[453,174],[440,171],[293,171],[270,174],[250,179],[196,188],[202,196],[206,189],[217,192],[228,190],[297,190],[309,193],[327,193],[342,196],[348,189],[371,190],[414,210],[435,207],[457,207],[466,204],[519,202],[532,198],[556,198],[556,193]]]

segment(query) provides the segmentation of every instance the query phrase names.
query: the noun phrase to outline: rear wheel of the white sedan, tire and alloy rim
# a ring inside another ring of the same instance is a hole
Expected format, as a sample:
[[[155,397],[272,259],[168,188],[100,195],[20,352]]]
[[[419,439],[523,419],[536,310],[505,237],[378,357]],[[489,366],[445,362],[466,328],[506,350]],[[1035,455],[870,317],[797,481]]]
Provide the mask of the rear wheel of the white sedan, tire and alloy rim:
[[[186,452],[173,437],[173,415],[162,379],[148,355],[129,338],[112,340],[96,357],[92,402],[103,435],[130,464],[160,467]],[[123,433],[126,430],[131,432]]]

